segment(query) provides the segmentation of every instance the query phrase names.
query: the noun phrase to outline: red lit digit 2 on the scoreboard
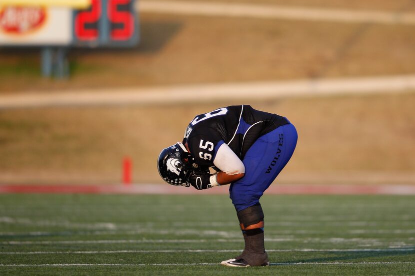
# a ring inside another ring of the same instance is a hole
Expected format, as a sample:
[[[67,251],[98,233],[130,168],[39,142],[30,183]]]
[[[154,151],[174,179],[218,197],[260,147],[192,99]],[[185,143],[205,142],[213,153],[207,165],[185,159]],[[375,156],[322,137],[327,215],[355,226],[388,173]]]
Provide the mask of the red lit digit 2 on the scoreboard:
[[[92,0],[91,8],[80,11],[75,17],[75,34],[79,40],[96,40],[98,38],[97,22],[101,16],[101,0]],[[86,24],[96,24],[95,28],[86,28]]]

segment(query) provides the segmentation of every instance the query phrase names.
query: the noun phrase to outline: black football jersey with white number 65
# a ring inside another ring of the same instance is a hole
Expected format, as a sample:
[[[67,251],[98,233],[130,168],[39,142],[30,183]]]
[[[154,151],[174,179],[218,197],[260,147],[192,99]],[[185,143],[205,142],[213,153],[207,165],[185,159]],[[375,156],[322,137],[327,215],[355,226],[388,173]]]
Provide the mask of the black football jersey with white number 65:
[[[198,165],[212,167],[223,143],[242,160],[258,137],[288,123],[285,117],[255,110],[250,105],[227,106],[194,117],[186,128],[183,143],[187,142]]]

